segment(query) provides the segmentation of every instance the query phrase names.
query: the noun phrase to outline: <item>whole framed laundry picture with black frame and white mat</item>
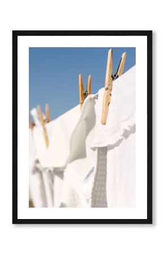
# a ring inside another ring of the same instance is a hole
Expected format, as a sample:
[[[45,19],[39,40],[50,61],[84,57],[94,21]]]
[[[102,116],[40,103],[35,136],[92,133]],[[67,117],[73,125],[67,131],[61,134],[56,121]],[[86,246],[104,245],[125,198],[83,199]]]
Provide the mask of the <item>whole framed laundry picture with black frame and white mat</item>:
[[[152,223],[152,31],[12,40],[13,222]]]

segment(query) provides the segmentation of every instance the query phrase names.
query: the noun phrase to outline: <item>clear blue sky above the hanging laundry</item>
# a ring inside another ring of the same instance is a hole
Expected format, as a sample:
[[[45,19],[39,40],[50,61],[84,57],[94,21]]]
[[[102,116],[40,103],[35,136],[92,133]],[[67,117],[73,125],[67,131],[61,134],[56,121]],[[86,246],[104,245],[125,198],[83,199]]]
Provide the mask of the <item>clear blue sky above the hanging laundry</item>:
[[[29,110],[49,103],[53,120],[79,104],[79,73],[87,88],[91,75],[91,93],[104,86],[109,48],[29,48]],[[114,72],[124,51],[124,72],[136,64],[135,48],[113,48]]]

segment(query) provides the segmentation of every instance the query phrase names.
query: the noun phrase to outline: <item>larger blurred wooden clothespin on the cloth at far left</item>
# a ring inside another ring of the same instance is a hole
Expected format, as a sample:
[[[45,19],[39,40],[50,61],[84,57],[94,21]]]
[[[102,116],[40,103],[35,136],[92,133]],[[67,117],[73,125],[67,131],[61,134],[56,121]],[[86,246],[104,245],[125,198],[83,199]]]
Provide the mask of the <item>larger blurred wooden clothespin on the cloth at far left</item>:
[[[43,131],[44,131],[46,147],[48,147],[49,146],[49,138],[48,138],[48,133],[47,133],[45,125],[46,125],[46,121],[50,122],[49,105],[46,104],[46,120],[44,120],[44,116],[42,114],[42,111],[41,111],[41,108],[39,105],[37,106],[37,112],[38,112],[38,116],[40,118],[40,122],[41,122],[41,125],[43,128]]]

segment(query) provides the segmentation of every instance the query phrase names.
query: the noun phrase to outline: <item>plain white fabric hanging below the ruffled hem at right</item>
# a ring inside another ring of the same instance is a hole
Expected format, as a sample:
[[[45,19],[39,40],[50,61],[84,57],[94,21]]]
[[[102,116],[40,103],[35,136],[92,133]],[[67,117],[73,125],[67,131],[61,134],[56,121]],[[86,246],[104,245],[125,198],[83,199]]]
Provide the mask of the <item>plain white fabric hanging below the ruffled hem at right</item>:
[[[136,134],[131,130],[118,146],[107,147],[108,207],[135,207]],[[110,164],[112,163],[112,164]]]

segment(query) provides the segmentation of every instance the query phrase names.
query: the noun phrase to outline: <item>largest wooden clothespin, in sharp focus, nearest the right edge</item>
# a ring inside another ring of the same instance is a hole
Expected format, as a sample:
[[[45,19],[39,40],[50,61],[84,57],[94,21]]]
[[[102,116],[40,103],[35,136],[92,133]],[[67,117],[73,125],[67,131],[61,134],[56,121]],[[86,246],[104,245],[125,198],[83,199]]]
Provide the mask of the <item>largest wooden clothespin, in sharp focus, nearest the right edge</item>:
[[[126,61],[127,53],[124,52],[122,58],[120,59],[118,69],[116,73],[113,75],[113,50],[110,49],[107,57],[107,65],[106,65],[106,76],[105,76],[105,92],[103,94],[103,103],[102,103],[102,115],[101,115],[101,123],[105,125],[107,114],[109,111],[109,104],[111,100],[111,91],[112,91],[112,82],[122,75],[124,70],[124,64]]]

